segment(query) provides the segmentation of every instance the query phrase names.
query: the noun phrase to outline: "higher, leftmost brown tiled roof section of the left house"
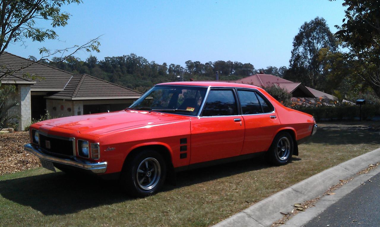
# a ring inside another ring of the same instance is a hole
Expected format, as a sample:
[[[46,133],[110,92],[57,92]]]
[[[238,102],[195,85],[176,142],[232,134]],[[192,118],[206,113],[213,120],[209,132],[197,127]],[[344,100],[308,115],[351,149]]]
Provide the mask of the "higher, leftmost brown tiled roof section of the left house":
[[[18,70],[17,73],[43,77],[36,79],[36,84],[31,86],[32,91],[61,91],[73,74],[53,68],[41,63],[35,63],[26,58],[4,52],[0,58],[0,66],[8,70]]]

